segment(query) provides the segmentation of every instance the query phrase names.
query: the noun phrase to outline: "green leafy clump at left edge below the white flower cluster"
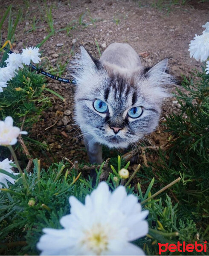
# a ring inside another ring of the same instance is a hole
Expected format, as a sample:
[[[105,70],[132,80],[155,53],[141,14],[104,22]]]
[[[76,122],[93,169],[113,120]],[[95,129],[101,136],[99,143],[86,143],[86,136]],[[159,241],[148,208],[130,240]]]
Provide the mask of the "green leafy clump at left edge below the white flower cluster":
[[[24,127],[31,127],[41,111],[50,104],[50,98],[43,94],[44,81],[43,76],[28,68],[19,70],[3,93],[0,93],[0,119],[12,116],[20,127],[20,117],[26,116]]]

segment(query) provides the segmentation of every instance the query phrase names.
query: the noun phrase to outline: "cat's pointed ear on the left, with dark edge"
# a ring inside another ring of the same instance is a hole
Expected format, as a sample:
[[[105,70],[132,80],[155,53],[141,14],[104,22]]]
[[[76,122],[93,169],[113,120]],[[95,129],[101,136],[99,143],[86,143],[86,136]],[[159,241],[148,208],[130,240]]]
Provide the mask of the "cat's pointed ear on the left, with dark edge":
[[[83,47],[81,46],[81,64],[84,68],[101,68],[101,63],[96,58],[93,58],[93,56]]]

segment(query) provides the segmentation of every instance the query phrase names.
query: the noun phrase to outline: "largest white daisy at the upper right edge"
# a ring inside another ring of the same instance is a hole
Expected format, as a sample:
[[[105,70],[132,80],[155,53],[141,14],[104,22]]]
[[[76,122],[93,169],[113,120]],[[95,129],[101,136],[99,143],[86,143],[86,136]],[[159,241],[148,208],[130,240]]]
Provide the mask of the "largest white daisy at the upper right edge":
[[[205,61],[209,56],[209,32],[203,31],[202,35],[195,35],[189,44],[190,58]]]

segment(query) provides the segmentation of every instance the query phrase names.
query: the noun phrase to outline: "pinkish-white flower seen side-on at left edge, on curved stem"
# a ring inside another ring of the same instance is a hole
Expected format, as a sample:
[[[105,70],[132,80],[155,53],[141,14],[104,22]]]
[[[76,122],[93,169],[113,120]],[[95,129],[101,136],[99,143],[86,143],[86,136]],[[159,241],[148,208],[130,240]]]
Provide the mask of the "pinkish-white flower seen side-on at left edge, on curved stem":
[[[20,131],[20,128],[13,126],[13,119],[7,116],[4,121],[0,121],[0,145],[15,145],[19,134],[28,134]]]

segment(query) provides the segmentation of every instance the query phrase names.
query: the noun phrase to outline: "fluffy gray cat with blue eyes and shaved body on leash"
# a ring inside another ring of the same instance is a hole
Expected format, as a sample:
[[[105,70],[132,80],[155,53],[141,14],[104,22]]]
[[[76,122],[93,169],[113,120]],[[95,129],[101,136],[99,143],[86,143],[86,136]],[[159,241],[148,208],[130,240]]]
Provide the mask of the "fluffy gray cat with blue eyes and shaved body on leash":
[[[72,73],[77,81],[75,120],[90,163],[102,163],[102,144],[127,148],[155,130],[168,96],[165,85],[173,83],[167,63],[142,67],[128,44],[110,44],[99,60],[81,47]]]

